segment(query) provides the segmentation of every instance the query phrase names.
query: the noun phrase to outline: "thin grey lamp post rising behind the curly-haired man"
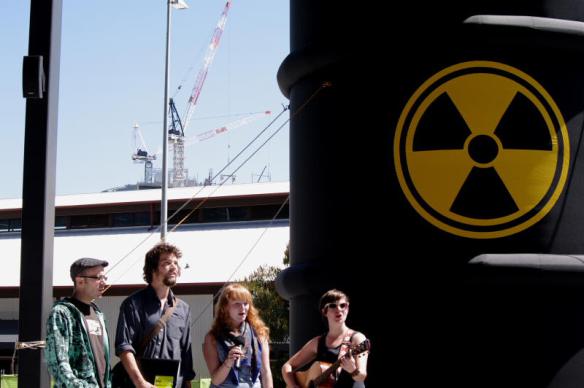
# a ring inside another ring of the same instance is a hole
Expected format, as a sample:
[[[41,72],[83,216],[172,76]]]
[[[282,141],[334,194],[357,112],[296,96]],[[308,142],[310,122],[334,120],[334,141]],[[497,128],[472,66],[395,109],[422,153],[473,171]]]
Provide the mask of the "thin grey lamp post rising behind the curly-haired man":
[[[162,119],[162,198],[160,204],[160,239],[165,241],[168,229],[168,79],[170,62],[171,8],[186,9],[184,0],[167,0],[166,52],[164,57],[164,110]]]

